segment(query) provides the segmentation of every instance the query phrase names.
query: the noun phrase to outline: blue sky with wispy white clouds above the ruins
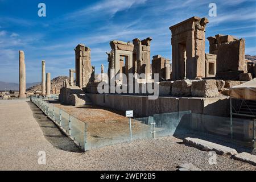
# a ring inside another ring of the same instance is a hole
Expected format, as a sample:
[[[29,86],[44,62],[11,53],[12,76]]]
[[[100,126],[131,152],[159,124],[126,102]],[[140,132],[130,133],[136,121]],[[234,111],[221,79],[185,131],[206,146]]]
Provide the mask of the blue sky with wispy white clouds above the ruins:
[[[46,4],[46,17],[38,4]],[[209,3],[217,17],[209,17]],[[0,0],[0,81],[18,82],[18,50],[25,52],[27,82],[40,81],[41,61],[52,78],[75,68],[79,43],[92,49],[92,65],[108,69],[110,40],[153,38],[151,57],[171,59],[169,27],[191,18],[207,17],[206,37],[229,34],[246,39],[246,54],[256,55],[256,1],[100,0],[46,1]],[[209,44],[206,41],[206,52]]]

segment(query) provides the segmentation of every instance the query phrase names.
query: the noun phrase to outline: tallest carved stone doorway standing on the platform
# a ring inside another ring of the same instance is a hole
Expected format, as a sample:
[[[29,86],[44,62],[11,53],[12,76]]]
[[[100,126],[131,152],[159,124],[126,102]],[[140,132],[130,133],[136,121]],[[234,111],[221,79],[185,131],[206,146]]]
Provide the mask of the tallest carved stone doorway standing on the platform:
[[[207,18],[193,16],[170,27],[172,80],[205,77],[205,26]]]

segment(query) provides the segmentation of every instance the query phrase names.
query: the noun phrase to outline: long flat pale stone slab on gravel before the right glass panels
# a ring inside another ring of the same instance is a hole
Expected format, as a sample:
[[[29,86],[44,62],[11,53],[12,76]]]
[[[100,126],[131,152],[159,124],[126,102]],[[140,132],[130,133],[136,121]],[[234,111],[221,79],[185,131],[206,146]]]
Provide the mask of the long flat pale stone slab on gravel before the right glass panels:
[[[234,148],[222,146],[220,144],[208,142],[206,140],[198,139],[198,138],[185,138],[183,140],[184,143],[194,146],[196,148],[199,148],[200,150],[205,150],[205,151],[216,151],[217,154],[223,155],[223,154],[228,154],[228,155],[236,155],[238,154]]]

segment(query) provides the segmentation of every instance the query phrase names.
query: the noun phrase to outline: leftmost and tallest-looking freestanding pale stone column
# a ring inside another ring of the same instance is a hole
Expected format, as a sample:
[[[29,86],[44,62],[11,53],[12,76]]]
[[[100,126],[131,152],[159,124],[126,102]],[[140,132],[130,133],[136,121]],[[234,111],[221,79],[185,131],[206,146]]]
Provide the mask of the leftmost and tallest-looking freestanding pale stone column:
[[[23,51],[19,51],[19,98],[26,98],[26,69],[25,55]]]

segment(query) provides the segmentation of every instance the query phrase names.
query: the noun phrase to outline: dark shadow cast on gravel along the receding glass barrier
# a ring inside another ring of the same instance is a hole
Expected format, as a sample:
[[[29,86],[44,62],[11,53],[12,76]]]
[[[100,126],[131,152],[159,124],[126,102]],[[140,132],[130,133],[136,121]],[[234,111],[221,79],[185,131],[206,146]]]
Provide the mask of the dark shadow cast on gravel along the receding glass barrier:
[[[49,119],[35,104],[27,102],[32,110],[33,117],[38,122],[44,137],[52,144],[53,147],[68,152],[81,152],[75,143],[65,136],[63,132]]]

